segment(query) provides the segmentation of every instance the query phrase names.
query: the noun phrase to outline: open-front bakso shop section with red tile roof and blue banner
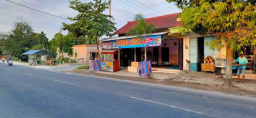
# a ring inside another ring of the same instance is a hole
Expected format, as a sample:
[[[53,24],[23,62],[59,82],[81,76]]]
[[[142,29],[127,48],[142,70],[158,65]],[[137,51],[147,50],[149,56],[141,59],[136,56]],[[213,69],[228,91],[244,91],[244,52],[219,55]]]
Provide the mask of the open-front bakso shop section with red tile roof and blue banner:
[[[179,13],[167,14],[157,17],[145,18],[147,23],[152,23],[156,31],[151,34],[126,35],[136,21],[128,21],[114,34],[117,37],[101,40],[103,49],[119,51],[119,64],[121,67],[131,66],[132,63],[150,60],[153,68],[183,69],[183,37],[182,35],[170,35],[170,27],[180,26],[177,21]],[[145,49],[146,48],[146,49]],[[146,50],[146,56],[145,56]]]

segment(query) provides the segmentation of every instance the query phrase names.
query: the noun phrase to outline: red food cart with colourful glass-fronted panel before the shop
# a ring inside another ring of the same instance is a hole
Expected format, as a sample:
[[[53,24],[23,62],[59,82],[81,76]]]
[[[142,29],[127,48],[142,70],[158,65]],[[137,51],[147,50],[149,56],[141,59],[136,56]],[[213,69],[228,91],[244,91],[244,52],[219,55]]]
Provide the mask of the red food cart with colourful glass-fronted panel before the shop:
[[[100,52],[101,71],[119,71],[119,56],[117,50],[105,50]]]

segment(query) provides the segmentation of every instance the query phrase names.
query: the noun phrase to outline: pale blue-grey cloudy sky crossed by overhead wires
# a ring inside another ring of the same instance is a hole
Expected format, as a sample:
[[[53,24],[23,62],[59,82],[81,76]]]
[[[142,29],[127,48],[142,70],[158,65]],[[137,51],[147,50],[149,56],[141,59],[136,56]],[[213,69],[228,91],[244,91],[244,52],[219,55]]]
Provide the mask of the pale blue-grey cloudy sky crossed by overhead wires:
[[[68,7],[69,0],[9,1],[64,18],[75,16],[77,13]],[[88,2],[91,0],[80,1]],[[22,18],[30,23],[34,29],[34,32],[43,31],[46,33],[46,36],[51,39],[56,32],[60,31],[62,22],[71,23],[69,20],[31,10],[6,0],[0,0],[0,6],[0,31],[4,32],[13,29],[13,22],[17,21],[19,18]],[[127,21],[132,21],[133,16],[136,13],[141,13],[144,17],[154,17],[175,12],[180,12],[180,10],[173,3],[168,3],[166,0],[111,0],[111,15],[115,19],[115,26],[117,29],[126,24]],[[108,13],[108,10],[106,10],[104,13]],[[62,32],[67,33],[67,31]]]

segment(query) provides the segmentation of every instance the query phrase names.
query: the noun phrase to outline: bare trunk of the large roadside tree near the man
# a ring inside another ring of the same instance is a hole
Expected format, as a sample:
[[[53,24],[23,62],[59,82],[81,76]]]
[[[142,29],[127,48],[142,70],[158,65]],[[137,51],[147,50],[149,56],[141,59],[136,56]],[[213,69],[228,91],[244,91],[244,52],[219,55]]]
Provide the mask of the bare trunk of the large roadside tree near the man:
[[[232,87],[232,62],[233,62],[233,49],[226,48],[226,70],[224,78],[224,88]]]

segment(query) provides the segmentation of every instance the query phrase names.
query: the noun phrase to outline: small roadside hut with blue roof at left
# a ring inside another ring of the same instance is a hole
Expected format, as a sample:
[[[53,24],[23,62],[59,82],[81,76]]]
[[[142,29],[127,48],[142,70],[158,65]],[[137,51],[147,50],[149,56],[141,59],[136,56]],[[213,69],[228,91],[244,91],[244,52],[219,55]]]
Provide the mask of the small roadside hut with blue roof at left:
[[[47,50],[29,50],[25,53],[22,53],[22,55],[28,55],[28,63],[31,64],[37,64],[38,61],[46,61],[49,55],[49,52]]]

